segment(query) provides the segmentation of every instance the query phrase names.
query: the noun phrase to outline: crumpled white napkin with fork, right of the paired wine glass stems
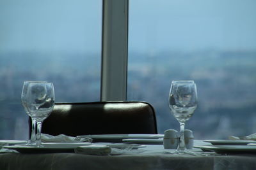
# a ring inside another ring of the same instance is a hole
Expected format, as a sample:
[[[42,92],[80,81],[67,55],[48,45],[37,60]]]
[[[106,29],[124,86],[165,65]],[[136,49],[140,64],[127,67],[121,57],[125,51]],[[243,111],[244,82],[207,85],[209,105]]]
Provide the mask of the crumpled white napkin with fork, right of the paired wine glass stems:
[[[52,136],[49,134],[41,134],[42,142],[56,142],[56,143],[77,143],[77,142],[92,142],[92,138],[83,138],[80,141],[75,141],[76,137],[66,136],[65,134],[59,134],[58,136]]]

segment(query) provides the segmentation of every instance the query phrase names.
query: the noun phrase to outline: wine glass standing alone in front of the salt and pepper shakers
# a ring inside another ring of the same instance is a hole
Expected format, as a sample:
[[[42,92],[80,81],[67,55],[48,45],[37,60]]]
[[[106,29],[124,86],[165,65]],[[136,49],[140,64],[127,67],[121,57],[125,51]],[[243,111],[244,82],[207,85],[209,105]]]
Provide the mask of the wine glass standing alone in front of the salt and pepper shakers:
[[[192,117],[197,106],[197,92],[194,81],[172,81],[169,94],[169,108],[180,123],[180,138],[177,153],[186,153],[184,142],[185,122]]]

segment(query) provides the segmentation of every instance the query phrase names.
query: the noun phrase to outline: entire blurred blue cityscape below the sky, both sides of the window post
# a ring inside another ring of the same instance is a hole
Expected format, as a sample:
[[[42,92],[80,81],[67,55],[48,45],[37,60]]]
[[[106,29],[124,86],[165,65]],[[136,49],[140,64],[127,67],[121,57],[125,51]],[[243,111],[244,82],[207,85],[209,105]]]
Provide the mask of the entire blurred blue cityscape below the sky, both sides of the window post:
[[[128,68],[127,100],[154,106],[159,133],[179,131],[168,108],[172,80],[196,82],[198,108],[186,123],[196,139],[256,132],[256,52],[129,53]],[[52,81],[56,102],[99,101],[100,54],[1,53],[0,139],[28,138],[20,104],[25,80]]]

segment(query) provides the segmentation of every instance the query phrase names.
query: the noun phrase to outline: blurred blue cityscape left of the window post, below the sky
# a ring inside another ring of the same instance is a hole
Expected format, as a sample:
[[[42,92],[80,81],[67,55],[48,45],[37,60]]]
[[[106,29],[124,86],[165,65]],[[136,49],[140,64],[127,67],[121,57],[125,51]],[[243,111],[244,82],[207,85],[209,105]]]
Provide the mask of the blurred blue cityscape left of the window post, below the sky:
[[[100,100],[100,53],[0,53],[0,139],[28,139],[23,82],[51,81],[56,102]]]

